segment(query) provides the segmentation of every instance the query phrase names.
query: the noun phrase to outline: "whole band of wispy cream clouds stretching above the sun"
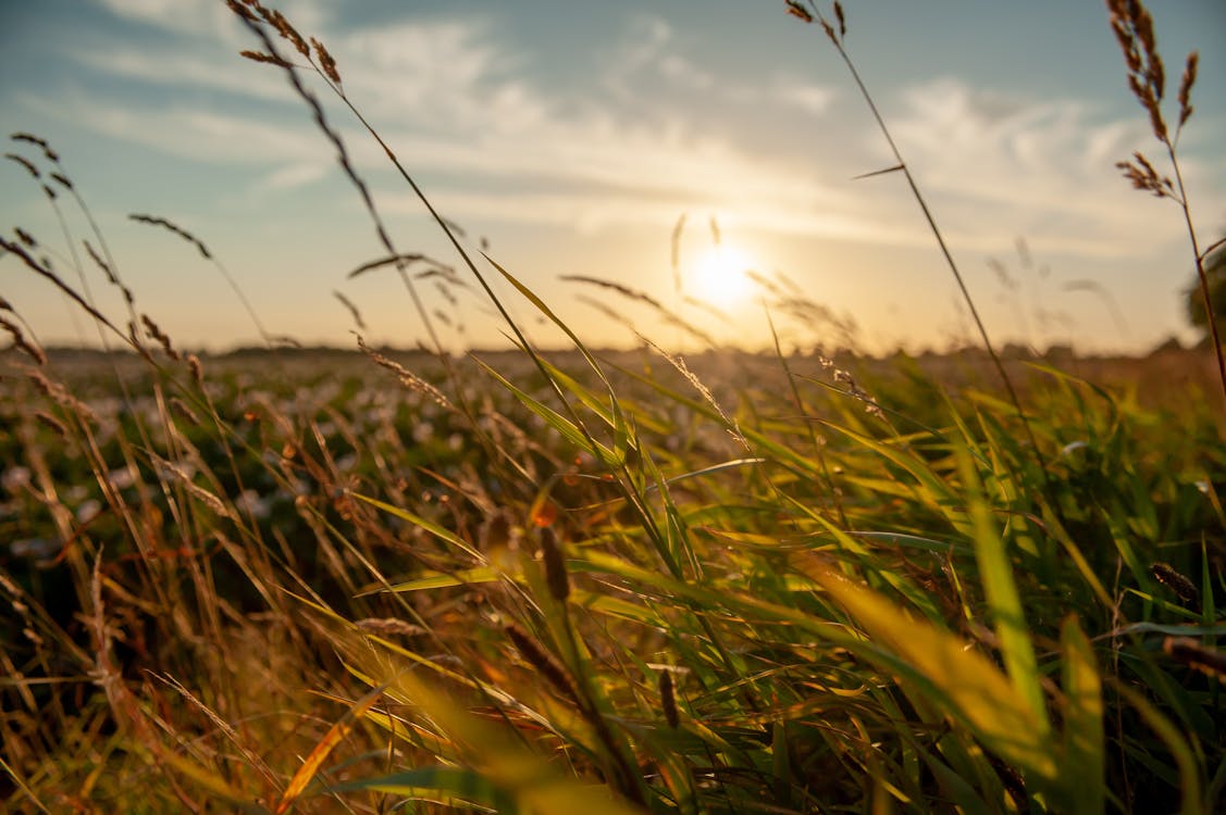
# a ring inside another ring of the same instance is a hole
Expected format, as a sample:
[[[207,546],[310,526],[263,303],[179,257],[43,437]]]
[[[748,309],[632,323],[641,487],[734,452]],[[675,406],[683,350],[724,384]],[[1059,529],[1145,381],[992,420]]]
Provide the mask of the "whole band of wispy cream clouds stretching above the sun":
[[[75,49],[76,59],[125,81],[223,96],[208,108],[199,100],[141,107],[78,96],[61,103],[75,120],[194,161],[265,163],[253,183],[265,192],[333,172],[324,140],[302,126],[300,115],[289,115],[300,112],[280,72],[233,55],[249,43],[234,39],[242,32],[235,34],[221,4],[101,1],[184,40],[150,50],[99,36]],[[874,162],[891,162],[875,132],[776,154],[743,131],[711,125],[714,110],[747,102],[766,120],[791,114],[834,125],[829,116],[840,96],[831,87],[777,71],[721,76],[694,61],[661,17],[626,17],[593,58],[591,83],[604,96],[590,100],[533,78],[526,47],[478,15],[359,28],[342,26],[319,5],[295,6],[294,15],[303,31],[329,43],[347,93],[411,168],[434,176],[435,192],[457,216],[600,229],[668,226],[678,212],[700,208],[777,233],[894,245],[929,240],[906,191],[883,188],[889,178],[850,183],[877,169]],[[689,104],[662,93],[682,94]],[[237,108],[227,98],[281,104],[253,118],[250,104]],[[342,115],[337,123],[347,121]],[[1053,250],[1100,257],[1132,251],[1121,235],[1166,240],[1178,227],[1173,218],[1170,228],[1156,227],[1112,167],[1143,140],[1143,124],[1103,120],[1075,99],[1032,100],[954,78],[906,88],[891,118],[961,246],[993,250],[1015,235],[1041,234]],[[378,178],[386,167],[381,151],[357,126],[342,130],[358,165]],[[831,138],[828,130],[813,138]],[[396,191],[384,200],[416,207]]]

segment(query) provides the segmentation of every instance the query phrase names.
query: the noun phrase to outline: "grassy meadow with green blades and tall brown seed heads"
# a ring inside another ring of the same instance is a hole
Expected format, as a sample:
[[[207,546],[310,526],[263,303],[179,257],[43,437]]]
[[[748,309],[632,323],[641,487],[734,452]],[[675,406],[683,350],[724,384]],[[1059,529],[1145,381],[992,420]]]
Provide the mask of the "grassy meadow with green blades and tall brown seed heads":
[[[304,86],[345,99],[326,47],[229,5],[386,240]],[[1195,63],[1168,130],[1148,12],[1108,7],[1177,170]],[[843,53],[839,4],[785,9]],[[10,150],[88,217],[50,142]],[[1186,200],[1177,172],[1121,169]],[[516,349],[191,353],[102,230],[75,270],[0,238],[109,347],[44,349],[0,304],[11,811],[1226,808],[1213,320],[1143,359],[1000,354],[982,325],[931,358],[604,352],[560,321],[571,347],[541,349],[489,276],[549,303],[436,222],[459,271],[390,240],[384,263],[425,326],[417,287],[482,287]]]

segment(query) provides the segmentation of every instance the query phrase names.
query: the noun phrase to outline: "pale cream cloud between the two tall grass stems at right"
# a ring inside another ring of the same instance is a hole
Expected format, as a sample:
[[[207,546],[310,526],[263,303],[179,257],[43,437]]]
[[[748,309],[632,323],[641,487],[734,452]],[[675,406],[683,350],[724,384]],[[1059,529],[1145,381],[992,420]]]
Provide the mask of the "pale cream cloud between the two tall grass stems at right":
[[[966,245],[1037,235],[1049,249],[1110,257],[1178,238],[1176,213],[1155,218],[1113,167],[1146,146],[1144,121],[1101,121],[1089,103],[1013,98],[954,78],[912,86],[902,102],[890,129]],[[878,156],[893,163],[884,147]]]

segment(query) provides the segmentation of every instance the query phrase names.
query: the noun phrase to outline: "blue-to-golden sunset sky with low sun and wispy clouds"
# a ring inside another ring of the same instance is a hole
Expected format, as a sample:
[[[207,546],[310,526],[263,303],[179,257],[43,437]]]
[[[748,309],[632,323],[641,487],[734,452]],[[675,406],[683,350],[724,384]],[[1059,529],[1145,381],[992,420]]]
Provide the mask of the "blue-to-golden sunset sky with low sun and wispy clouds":
[[[482,248],[591,346],[765,348],[774,331],[787,349],[917,353],[972,339],[905,179],[862,178],[895,162],[846,66],[782,0],[270,5],[325,43],[347,99],[462,228],[532,342],[565,338]],[[1226,4],[1151,5],[1171,120],[1184,58],[1200,51],[1178,154],[1208,244],[1226,233]],[[1194,338],[1182,212],[1114,168],[1140,150],[1170,172],[1101,2],[845,6],[850,56],[994,342],[1094,353]],[[0,0],[0,134],[50,142],[137,313],[180,347],[261,333],[352,347],[354,332],[411,347],[432,330],[449,349],[505,344],[472,272],[308,67],[396,251],[456,270],[413,283],[424,319],[394,268],[349,277],[386,250],[284,71],[239,56],[257,48],[221,0]],[[4,152],[47,168],[28,143]],[[0,163],[6,239],[32,235],[125,325],[83,252],[82,239],[98,246],[88,219],[67,196],[56,205],[22,164]],[[131,213],[172,221],[219,266]],[[99,342],[16,257],[0,256],[0,295],[44,344]]]

